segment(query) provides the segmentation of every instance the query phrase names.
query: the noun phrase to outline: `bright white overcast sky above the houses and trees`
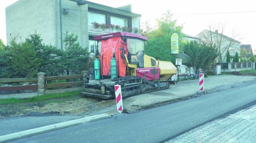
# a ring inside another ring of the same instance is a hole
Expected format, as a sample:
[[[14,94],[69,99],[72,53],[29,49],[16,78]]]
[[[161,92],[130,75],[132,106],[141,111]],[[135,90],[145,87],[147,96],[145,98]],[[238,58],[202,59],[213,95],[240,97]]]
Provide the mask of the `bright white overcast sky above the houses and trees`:
[[[6,44],[5,30],[5,7],[18,0],[1,0],[0,1],[0,39]],[[170,10],[173,13],[173,19],[178,24],[183,24],[182,32],[195,36],[208,25],[217,23],[226,23],[224,34],[230,36],[232,30],[240,33],[239,40],[242,44],[251,44],[256,49],[256,2],[253,0],[214,0],[209,3],[208,0],[89,0],[95,3],[119,7],[122,5],[132,4],[132,12],[139,13],[141,25],[148,19],[151,26],[155,26],[155,19],[162,16],[162,13]],[[241,12],[241,13],[223,13],[223,12]],[[194,14],[193,14],[194,13]],[[222,13],[222,14],[195,14],[195,13]],[[188,15],[189,14],[189,15]],[[192,14],[192,15],[191,15]],[[18,23],[17,23],[18,24]],[[238,39],[236,39],[238,40]],[[253,50],[254,51],[254,50]]]

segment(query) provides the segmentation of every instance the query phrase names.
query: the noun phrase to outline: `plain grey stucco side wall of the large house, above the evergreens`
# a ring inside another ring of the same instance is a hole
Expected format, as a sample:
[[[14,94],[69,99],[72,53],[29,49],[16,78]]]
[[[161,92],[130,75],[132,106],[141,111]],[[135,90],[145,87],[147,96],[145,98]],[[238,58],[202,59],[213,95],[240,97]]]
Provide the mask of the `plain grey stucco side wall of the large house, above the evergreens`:
[[[19,0],[5,8],[7,44],[11,36],[20,42],[36,30],[44,43],[56,45],[55,7],[54,0]]]

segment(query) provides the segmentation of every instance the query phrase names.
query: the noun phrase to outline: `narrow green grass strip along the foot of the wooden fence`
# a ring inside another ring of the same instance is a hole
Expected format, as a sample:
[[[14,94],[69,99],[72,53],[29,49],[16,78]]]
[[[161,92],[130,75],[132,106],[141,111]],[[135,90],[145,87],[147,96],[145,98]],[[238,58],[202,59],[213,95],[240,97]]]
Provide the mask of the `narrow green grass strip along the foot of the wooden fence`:
[[[9,99],[0,99],[1,105],[6,104],[19,104],[19,103],[37,103],[43,102],[49,99],[61,99],[61,98],[72,98],[76,95],[79,95],[80,91],[72,91],[72,92],[65,92],[65,93],[58,93],[58,94],[46,94],[35,96],[32,98],[26,99],[16,99],[16,98],[9,98]]]

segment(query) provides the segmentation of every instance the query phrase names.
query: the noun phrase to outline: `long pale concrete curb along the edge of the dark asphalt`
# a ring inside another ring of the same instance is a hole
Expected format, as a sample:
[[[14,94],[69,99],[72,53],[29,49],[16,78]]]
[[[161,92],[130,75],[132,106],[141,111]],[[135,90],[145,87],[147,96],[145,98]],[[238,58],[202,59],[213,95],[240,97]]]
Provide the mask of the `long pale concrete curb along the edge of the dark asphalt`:
[[[56,123],[56,124],[52,124],[52,125],[48,125],[48,126],[33,128],[30,130],[15,132],[12,134],[2,135],[2,136],[0,136],[0,143],[9,142],[9,141],[15,140],[15,139],[26,138],[28,136],[38,135],[38,134],[42,134],[44,132],[59,130],[61,128],[67,128],[67,127],[75,126],[78,124],[88,123],[88,122],[92,122],[92,121],[104,119],[104,118],[109,118],[109,115],[108,114],[99,114],[99,115],[84,117],[84,118],[80,118],[80,119],[70,120],[70,121],[66,121],[66,122]]]

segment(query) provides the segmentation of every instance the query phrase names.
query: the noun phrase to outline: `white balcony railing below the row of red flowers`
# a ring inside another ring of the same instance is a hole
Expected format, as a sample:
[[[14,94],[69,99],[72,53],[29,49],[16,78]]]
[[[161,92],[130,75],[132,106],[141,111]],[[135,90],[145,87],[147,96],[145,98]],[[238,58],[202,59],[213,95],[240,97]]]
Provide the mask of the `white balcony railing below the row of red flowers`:
[[[109,34],[109,33],[114,33],[114,32],[122,32],[121,29],[111,29],[111,28],[104,28],[104,29],[102,29],[101,27],[94,28],[94,26],[92,24],[89,24],[88,31],[89,31],[89,33],[98,34],[98,35]],[[135,32],[132,32],[132,33],[135,33]],[[136,34],[139,34],[139,32],[136,33]]]

